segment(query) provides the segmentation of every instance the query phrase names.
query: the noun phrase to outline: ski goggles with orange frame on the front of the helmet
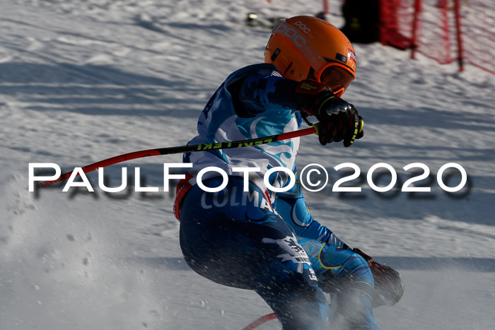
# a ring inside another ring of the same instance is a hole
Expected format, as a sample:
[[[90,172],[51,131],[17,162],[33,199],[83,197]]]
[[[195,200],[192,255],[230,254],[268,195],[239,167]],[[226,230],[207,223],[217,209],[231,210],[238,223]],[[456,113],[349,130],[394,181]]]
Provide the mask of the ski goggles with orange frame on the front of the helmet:
[[[328,86],[335,95],[342,98],[344,90],[354,81],[356,74],[343,64],[329,62],[318,72],[315,72],[315,78],[316,81]]]

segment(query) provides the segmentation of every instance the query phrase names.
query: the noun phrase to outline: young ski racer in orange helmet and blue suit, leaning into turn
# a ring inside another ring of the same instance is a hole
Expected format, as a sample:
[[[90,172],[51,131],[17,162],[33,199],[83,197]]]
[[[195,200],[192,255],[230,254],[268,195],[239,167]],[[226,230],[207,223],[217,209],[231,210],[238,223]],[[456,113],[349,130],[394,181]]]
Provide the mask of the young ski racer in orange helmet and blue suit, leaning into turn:
[[[306,116],[320,122],[323,146],[343,141],[349,147],[363,136],[363,119],[341,98],[355,78],[356,55],[337,28],[310,16],[283,20],[272,30],[264,61],[226,78],[190,144],[294,131]],[[185,154],[192,167],[174,206],[185,260],[211,281],[255,290],[284,329],[378,329],[373,305],[395,304],[402,282],[313,219],[296,177],[298,146],[294,138]],[[269,172],[274,167],[294,177]],[[323,292],[332,302],[335,297],[334,319]]]

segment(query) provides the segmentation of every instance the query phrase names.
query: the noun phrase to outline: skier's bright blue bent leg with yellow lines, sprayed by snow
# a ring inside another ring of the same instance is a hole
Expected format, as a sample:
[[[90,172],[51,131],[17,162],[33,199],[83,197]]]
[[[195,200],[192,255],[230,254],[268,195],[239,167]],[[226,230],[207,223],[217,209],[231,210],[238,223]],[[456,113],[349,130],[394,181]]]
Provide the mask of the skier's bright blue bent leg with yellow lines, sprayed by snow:
[[[359,254],[317,240],[299,239],[318,276],[320,288],[332,295],[336,329],[378,329],[373,319],[373,275]]]

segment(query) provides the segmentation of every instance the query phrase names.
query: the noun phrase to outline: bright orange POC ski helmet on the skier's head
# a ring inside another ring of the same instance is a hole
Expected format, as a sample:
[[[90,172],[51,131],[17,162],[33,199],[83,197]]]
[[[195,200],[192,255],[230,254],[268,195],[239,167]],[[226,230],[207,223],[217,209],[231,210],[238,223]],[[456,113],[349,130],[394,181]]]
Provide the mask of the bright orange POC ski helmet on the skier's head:
[[[284,78],[313,79],[342,96],[356,78],[356,53],[338,28],[320,18],[295,16],[281,20],[264,50]]]

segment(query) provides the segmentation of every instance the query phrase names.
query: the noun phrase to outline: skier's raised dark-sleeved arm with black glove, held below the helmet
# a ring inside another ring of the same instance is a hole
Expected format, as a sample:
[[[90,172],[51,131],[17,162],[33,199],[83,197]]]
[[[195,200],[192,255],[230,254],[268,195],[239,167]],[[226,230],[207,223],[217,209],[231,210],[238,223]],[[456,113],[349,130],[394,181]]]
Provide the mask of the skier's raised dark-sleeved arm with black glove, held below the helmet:
[[[301,82],[282,78],[267,68],[235,81],[231,92],[240,117],[255,117],[266,111],[299,111],[314,115],[320,121],[320,143],[344,141],[348,147],[363,137],[363,119],[354,105],[342,100],[322,83]]]

